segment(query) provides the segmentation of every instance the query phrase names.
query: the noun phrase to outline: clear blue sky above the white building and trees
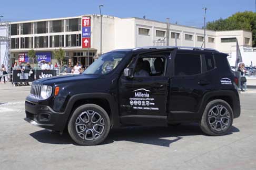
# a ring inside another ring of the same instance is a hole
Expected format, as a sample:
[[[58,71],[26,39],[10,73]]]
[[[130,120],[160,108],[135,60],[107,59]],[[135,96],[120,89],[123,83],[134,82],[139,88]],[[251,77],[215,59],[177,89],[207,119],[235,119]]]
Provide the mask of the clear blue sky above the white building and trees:
[[[99,5],[103,4],[102,14],[116,17],[140,17],[166,21],[179,25],[202,27],[203,7],[208,8],[206,22],[227,18],[236,12],[250,10],[255,12],[255,0],[1,0],[0,15],[2,21],[21,21],[58,17],[71,17],[85,14],[99,14]]]

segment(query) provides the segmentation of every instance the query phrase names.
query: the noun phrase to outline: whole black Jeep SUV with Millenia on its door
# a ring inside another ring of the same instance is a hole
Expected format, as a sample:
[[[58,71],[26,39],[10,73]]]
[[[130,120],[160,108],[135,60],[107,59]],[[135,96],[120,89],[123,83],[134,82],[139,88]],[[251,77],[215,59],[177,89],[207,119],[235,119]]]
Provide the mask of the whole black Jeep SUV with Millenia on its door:
[[[63,132],[80,145],[104,141],[110,129],[199,122],[227,134],[240,100],[227,54],[189,47],[142,47],[102,55],[82,75],[36,80],[25,120]]]

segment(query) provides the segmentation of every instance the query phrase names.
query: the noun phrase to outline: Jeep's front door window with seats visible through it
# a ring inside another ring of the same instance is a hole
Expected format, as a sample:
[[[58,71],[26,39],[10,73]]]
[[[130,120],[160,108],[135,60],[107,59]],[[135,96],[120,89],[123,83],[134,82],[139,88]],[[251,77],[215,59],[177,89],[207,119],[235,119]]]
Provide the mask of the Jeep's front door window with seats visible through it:
[[[164,66],[164,56],[142,56],[136,62],[134,76],[163,76]]]

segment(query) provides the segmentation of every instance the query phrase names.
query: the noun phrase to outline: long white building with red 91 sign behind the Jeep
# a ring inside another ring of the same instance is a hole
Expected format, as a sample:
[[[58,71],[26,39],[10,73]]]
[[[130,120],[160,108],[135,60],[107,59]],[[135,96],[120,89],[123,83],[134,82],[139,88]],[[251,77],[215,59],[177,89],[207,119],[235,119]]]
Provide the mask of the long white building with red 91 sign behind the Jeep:
[[[84,15],[12,22],[11,63],[22,61],[32,48],[38,57],[50,57],[55,62],[53,51],[62,48],[67,62],[73,65],[80,61],[88,65],[88,61],[92,63],[93,58],[100,54],[100,21],[100,15]],[[204,46],[204,30],[200,28],[170,24],[169,35],[169,46]],[[248,31],[206,30],[206,48],[232,54],[236,39],[240,46],[250,47],[252,44],[252,34]],[[102,17],[102,53],[113,49],[165,45],[164,22],[134,17]]]

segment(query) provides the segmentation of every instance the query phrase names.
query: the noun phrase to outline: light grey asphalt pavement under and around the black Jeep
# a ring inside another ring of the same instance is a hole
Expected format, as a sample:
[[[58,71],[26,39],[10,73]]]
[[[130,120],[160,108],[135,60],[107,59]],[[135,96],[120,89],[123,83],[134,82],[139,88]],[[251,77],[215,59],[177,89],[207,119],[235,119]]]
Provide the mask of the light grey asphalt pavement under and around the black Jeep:
[[[240,94],[241,116],[225,136],[206,136],[196,123],[136,126],[78,146],[23,120],[29,88],[0,84],[0,169],[256,169],[256,90]]]

